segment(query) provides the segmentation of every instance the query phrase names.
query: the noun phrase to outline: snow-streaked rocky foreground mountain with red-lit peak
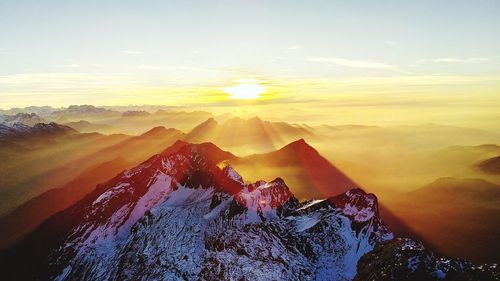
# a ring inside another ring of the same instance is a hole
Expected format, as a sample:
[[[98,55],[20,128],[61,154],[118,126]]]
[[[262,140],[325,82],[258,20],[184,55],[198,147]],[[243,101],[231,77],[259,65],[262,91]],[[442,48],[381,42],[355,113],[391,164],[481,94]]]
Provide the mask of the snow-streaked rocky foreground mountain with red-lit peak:
[[[373,194],[300,203],[245,184],[213,144],[178,142],[99,185],[2,254],[5,280],[350,280],[392,238]],[[21,269],[22,268],[22,269]]]

